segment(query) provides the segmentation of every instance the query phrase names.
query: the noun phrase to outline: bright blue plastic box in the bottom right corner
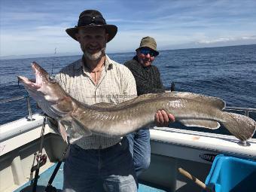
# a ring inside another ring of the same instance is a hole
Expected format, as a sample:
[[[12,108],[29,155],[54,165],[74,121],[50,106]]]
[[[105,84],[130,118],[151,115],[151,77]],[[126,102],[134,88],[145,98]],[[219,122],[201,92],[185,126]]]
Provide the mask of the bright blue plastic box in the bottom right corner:
[[[206,178],[216,192],[255,192],[256,161],[218,155]]]

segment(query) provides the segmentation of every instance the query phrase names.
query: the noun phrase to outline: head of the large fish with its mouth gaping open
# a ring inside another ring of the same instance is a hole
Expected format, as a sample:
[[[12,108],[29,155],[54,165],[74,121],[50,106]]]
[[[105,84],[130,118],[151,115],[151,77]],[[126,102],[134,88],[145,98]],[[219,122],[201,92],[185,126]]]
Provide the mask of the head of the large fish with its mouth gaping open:
[[[24,84],[39,107],[51,117],[59,117],[72,110],[69,96],[56,79],[36,62],[32,62],[32,70],[35,72],[35,81],[23,76],[18,76],[18,80]]]

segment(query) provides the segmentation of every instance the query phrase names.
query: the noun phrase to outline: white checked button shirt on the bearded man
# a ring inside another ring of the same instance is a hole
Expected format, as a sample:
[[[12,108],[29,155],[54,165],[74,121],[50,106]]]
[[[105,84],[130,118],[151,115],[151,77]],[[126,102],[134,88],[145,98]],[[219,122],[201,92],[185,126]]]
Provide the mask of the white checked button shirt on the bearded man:
[[[119,103],[137,96],[136,81],[126,66],[105,56],[105,66],[98,84],[93,82],[90,72],[83,67],[82,59],[72,62],[56,75],[56,80],[70,96],[87,105],[99,102]],[[120,138],[87,136],[74,143],[84,149],[108,148],[120,142]]]

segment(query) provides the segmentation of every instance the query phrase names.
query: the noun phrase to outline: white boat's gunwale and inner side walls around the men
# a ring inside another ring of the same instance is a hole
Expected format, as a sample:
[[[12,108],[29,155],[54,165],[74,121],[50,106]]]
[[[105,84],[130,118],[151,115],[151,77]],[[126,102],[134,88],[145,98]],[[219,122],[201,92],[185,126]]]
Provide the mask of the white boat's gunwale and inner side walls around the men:
[[[40,147],[43,117],[33,117],[34,121],[23,118],[0,126],[0,191],[13,191],[34,177],[30,169]],[[151,130],[151,166],[139,179],[171,191],[200,190],[178,174],[178,167],[205,181],[216,154],[256,159],[256,139],[250,139],[247,147],[237,142],[233,136],[156,128]],[[40,172],[61,160],[65,148],[61,137],[45,126],[43,154],[47,163]]]

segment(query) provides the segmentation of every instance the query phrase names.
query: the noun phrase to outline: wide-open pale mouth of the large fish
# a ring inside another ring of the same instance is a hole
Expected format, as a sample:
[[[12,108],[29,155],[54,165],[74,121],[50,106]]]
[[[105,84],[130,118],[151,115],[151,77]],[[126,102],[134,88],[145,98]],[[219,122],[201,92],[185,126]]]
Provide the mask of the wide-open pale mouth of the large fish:
[[[43,85],[43,81],[40,75],[40,72],[37,69],[38,64],[36,62],[32,62],[31,67],[33,72],[35,73],[35,79],[29,79],[23,76],[18,76],[18,81],[21,81],[24,86],[29,87],[30,89],[40,89]]]

